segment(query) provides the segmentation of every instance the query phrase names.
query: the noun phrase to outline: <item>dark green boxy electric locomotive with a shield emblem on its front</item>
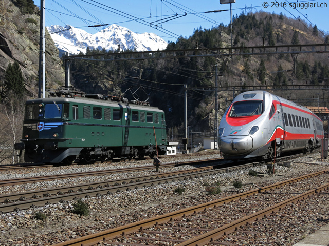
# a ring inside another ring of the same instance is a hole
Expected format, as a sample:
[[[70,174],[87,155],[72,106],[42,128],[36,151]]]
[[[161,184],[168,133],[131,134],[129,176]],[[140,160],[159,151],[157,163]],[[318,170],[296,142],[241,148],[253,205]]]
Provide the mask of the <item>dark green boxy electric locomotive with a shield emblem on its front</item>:
[[[25,162],[90,162],[166,153],[165,113],[140,101],[59,88],[53,97],[27,100]],[[57,95],[57,96],[56,96]]]

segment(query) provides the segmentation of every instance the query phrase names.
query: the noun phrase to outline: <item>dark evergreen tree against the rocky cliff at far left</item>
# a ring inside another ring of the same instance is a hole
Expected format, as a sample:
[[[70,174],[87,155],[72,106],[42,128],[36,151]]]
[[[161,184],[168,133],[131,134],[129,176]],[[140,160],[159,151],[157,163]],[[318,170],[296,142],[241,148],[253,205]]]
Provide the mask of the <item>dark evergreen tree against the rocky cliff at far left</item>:
[[[19,63],[9,63],[5,72],[5,93],[13,92],[17,97],[21,97],[25,92],[24,77]]]

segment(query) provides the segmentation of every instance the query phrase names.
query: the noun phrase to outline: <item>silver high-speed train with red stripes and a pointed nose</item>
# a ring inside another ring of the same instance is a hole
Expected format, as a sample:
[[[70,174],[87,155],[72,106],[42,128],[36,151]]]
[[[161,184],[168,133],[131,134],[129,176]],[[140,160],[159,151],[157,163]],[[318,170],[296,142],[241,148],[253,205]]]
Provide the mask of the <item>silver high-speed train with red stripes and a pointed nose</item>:
[[[307,108],[266,91],[249,91],[234,98],[218,137],[224,158],[270,159],[319,148],[324,132],[321,119]]]

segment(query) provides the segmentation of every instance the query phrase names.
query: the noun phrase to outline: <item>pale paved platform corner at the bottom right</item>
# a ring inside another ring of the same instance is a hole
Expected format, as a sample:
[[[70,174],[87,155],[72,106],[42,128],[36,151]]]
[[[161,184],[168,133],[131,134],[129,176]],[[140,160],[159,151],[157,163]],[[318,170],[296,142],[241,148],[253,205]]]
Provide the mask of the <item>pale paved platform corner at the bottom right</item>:
[[[329,246],[329,224],[321,227],[315,233],[309,234],[293,246]]]

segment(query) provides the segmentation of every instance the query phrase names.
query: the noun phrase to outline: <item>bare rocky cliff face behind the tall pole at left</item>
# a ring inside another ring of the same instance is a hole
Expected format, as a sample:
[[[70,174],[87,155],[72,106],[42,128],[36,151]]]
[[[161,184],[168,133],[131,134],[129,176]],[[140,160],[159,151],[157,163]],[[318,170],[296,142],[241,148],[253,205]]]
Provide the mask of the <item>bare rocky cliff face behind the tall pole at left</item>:
[[[25,78],[31,97],[38,96],[40,10],[22,14],[13,1],[4,0],[0,12],[0,79],[9,63],[16,60]],[[64,84],[64,70],[59,51],[46,31],[46,88]]]

